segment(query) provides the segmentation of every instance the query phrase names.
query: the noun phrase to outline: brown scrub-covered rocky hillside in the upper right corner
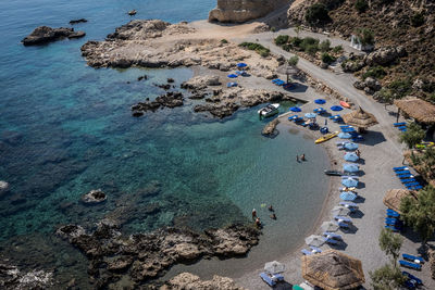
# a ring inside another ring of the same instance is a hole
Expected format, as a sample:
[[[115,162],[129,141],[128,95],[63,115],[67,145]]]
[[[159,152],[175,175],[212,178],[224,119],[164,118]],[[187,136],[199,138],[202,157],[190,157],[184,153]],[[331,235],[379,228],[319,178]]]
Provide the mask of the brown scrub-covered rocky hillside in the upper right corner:
[[[415,94],[435,101],[433,0],[299,0],[287,15],[291,25],[304,24],[344,38],[371,30],[377,55],[403,48],[406,53],[385,55],[387,62],[360,62],[353,71],[362,78],[377,78],[394,98]]]

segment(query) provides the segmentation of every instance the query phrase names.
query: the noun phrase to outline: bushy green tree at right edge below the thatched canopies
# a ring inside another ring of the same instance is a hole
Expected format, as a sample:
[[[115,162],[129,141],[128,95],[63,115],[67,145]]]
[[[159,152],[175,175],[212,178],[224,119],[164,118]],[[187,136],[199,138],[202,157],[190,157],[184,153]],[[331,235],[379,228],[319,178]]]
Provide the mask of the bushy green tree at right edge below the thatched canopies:
[[[419,232],[423,244],[435,232],[435,188],[426,186],[419,191],[419,198],[405,197],[400,202],[400,218]]]

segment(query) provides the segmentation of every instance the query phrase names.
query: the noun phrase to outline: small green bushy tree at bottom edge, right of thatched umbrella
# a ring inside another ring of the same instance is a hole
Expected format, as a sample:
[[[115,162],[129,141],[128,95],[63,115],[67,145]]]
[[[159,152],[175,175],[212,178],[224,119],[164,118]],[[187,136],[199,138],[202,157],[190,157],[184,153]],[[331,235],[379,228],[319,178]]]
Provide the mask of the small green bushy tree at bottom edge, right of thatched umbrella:
[[[374,290],[394,290],[399,289],[406,281],[406,277],[401,274],[400,268],[385,264],[374,272],[369,272],[372,278],[372,287]]]

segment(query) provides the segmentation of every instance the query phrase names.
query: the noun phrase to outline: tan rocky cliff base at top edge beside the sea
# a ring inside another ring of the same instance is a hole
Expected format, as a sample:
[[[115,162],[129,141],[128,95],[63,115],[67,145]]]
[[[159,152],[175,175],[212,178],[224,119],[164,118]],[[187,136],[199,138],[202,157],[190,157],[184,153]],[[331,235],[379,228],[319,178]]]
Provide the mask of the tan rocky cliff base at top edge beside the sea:
[[[217,0],[217,7],[210,11],[209,21],[241,23],[265,16],[290,0]]]

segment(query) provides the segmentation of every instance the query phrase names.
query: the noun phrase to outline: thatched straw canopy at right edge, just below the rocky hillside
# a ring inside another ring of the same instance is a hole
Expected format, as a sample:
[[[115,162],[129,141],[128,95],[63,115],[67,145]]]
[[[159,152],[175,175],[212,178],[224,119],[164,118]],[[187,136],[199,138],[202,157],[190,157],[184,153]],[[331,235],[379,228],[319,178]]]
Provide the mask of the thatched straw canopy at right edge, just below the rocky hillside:
[[[415,97],[395,100],[395,105],[406,116],[413,117],[419,123],[435,124],[435,105]]]

